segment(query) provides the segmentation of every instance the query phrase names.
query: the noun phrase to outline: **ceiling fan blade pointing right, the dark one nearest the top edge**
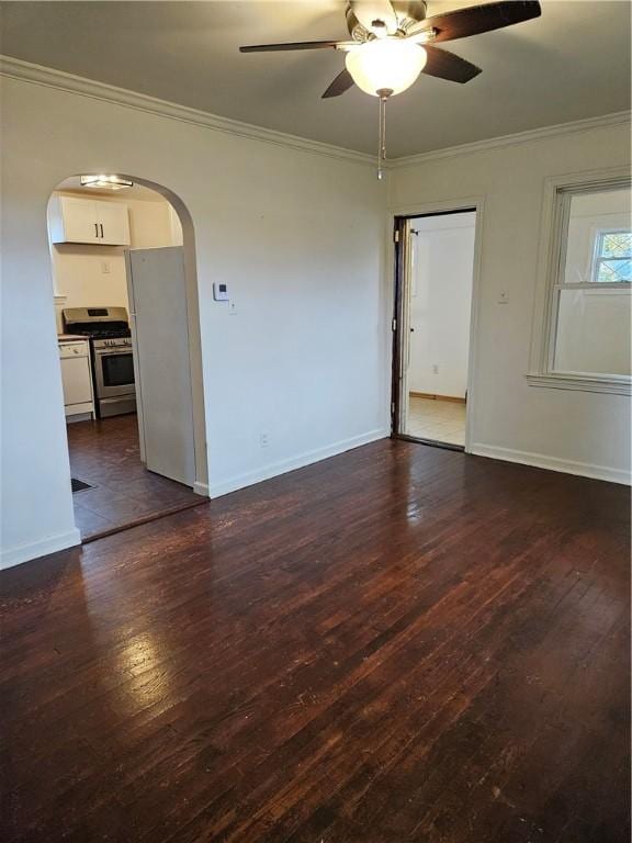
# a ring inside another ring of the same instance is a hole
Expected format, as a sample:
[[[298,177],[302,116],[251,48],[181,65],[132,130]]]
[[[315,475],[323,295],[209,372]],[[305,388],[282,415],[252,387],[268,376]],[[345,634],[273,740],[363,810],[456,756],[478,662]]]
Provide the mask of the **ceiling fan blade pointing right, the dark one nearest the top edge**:
[[[454,41],[478,35],[482,32],[500,30],[504,26],[512,26],[515,23],[529,21],[541,14],[542,8],[538,0],[500,0],[496,3],[470,5],[465,9],[456,9],[454,12],[426,18],[419,26],[410,31],[410,34],[417,35],[433,29],[436,32],[433,43]]]

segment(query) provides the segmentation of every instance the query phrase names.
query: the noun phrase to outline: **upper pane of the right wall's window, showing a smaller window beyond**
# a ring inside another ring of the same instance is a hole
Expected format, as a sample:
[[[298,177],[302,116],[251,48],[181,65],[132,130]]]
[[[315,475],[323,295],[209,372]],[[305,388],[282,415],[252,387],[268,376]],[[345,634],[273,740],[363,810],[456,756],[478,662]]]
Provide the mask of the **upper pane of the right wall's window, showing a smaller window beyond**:
[[[612,278],[610,263],[600,274],[599,258],[630,257],[630,188],[573,194],[561,281],[577,284],[625,280]]]

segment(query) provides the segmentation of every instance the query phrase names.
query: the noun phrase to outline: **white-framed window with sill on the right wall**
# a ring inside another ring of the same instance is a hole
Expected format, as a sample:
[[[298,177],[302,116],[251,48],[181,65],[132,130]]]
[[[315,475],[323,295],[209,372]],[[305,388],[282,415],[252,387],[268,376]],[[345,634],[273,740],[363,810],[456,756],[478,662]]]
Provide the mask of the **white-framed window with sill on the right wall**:
[[[632,225],[629,181],[552,186],[548,304],[533,385],[628,394]]]

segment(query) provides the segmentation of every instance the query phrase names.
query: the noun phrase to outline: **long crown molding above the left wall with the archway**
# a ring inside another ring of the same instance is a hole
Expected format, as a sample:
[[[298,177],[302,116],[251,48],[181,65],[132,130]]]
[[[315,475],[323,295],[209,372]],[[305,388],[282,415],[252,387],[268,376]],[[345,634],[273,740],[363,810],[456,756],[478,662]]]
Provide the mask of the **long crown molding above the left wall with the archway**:
[[[47,88],[56,88],[60,91],[76,93],[81,97],[88,97],[92,100],[123,105],[124,108],[145,111],[150,114],[157,114],[161,117],[178,120],[182,123],[191,123],[195,126],[210,128],[215,132],[223,132],[238,137],[246,137],[251,140],[260,140],[274,146],[283,146],[290,149],[297,149],[303,153],[312,153],[328,158],[337,158],[352,164],[364,166],[375,166],[373,156],[365,153],[358,153],[352,149],[345,149],[332,144],[324,144],[319,140],[309,140],[297,135],[290,135],[285,132],[276,132],[271,128],[263,128],[251,123],[242,123],[238,120],[222,117],[217,114],[211,114],[199,109],[191,109],[188,105],[178,105],[174,102],[160,100],[156,97],[149,97],[145,93],[129,91],[126,88],[117,88],[113,85],[98,82],[87,79],[82,76],[66,74],[63,70],[56,70],[52,67],[43,67],[31,61],[22,61],[19,58],[0,55],[0,76],[7,76],[12,79],[19,79],[23,82],[41,85]]]

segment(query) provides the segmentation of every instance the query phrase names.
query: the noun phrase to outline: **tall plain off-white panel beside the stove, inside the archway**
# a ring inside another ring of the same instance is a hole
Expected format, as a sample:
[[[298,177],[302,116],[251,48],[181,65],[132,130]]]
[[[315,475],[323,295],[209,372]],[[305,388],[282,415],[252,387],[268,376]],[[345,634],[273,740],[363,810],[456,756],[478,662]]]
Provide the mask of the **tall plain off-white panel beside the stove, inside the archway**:
[[[149,471],[195,481],[193,404],[182,247],[128,252],[136,398]]]

